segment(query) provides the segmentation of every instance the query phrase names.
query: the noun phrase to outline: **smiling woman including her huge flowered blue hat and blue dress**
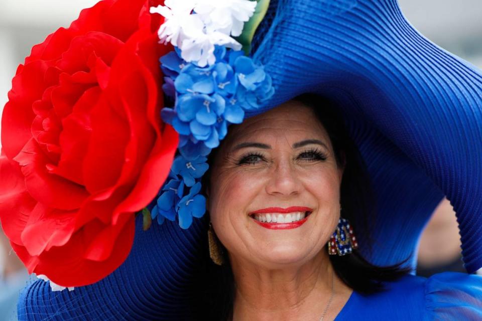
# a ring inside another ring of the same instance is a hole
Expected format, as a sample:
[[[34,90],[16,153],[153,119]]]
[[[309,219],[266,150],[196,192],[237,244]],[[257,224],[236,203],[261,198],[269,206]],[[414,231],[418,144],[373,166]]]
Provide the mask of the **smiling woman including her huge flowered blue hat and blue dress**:
[[[3,114],[2,225],[70,290],[34,282],[19,318],[480,318],[479,277],[401,276],[444,193],[482,265],[481,79],[392,0],[100,2],[33,49]]]

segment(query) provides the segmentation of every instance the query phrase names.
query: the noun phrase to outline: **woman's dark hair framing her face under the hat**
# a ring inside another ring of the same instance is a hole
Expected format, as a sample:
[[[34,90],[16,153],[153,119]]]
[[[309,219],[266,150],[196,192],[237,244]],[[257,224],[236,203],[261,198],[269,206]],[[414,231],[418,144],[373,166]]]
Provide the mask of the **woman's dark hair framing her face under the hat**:
[[[371,223],[376,220],[377,209],[363,158],[349,137],[333,102],[314,94],[303,94],[294,100],[311,107],[328,133],[336,162],[338,166],[344,166],[340,186],[341,217],[350,222],[360,246],[371,256],[374,243],[370,237],[370,226],[374,226]],[[213,164],[215,156],[216,149],[209,155],[208,164]],[[203,188],[209,186],[209,174],[208,172],[203,177]],[[206,220],[209,220],[208,215]],[[195,294],[194,302],[197,310],[202,311],[201,315],[207,319],[225,321],[232,318],[234,301],[231,266],[225,249],[224,264],[221,266],[210,260],[207,243],[205,249],[197,277],[200,292]],[[396,280],[411,271],[409,267],[404,267],[410,256],[390,266],[374,265],[358,250],[353,250],[349,255],[330,255],[329,258],[338,277],[347,286],[363,294],[382,291],[384,281]]]

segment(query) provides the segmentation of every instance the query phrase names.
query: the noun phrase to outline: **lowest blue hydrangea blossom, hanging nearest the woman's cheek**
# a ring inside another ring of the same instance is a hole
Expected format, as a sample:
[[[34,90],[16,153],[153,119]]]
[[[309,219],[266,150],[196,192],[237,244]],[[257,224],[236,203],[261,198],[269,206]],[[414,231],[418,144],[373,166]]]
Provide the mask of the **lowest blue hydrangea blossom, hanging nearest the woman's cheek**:
[[[201,183],[196,183],[189,191],[189,194],[183,197],[177,205],[179,226],[182,229],[189,228],[192,218],[200,218],[206,211],[206,198],[199,194],[200,191]]]

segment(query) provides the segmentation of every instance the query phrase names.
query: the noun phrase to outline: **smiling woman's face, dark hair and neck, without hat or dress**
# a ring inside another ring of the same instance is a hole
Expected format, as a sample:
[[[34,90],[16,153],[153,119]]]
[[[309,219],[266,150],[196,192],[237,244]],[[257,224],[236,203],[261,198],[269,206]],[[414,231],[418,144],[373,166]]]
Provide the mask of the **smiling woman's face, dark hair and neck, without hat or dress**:
[[[329,255],[341,208],[368,247],[375,219],[367,171],[334,107],[299,96],[233,125],[210,154],[204,194],[222,243],[210,254],[223,256],[200,269],[210,319],[333,319],[353,290],[379,292],[410,271],[409,258],[382,267],[354,249]]]

